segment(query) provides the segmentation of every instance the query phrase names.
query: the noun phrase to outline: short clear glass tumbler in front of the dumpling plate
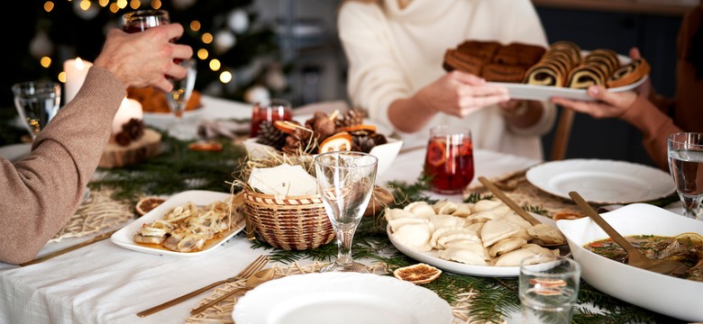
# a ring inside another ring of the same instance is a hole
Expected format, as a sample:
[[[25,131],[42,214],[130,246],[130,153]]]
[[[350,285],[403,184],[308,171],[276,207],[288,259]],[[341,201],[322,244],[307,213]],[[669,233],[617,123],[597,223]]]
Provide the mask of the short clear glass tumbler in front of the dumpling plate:
[[[535,255],[520,262],[523,323],[571,323],[581,267],[571,257]]]

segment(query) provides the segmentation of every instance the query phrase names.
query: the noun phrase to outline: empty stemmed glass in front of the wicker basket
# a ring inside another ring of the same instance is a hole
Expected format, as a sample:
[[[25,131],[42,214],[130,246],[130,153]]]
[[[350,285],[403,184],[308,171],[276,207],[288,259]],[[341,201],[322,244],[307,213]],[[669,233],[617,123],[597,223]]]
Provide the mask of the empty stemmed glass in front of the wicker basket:
[[[337,259],[320,272],[359,272],[369,269],[352,259],[352,238],[376,182],[379,159],[367,153],[334,151],[315,157],[317,191],[337,238]]]

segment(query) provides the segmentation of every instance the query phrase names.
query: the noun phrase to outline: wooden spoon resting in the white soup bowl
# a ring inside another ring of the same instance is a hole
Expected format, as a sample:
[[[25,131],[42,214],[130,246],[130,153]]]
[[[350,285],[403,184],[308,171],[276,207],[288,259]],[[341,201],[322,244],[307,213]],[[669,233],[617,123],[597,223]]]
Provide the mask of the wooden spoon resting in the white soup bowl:
[[[630,242],[623,238],[620,233],[613,229],[610,224],[607,223],[597,211],[589,205],[588,202],[583,200],[577,192],[570,192],[569,195],[580,208],[589,215],[590,219],[595,221],[601,229],[603,229],[607,236],[613,238],[613,241],[617,243],[620,247],[625,248],[627,252],[627,264],[630,266],[636,266],[644,270],[653,271],[662,275],[683,275],[688,266],[680,263],[679,261],[673,260],[659,260],[644,256],[637,247],[634,247]]]

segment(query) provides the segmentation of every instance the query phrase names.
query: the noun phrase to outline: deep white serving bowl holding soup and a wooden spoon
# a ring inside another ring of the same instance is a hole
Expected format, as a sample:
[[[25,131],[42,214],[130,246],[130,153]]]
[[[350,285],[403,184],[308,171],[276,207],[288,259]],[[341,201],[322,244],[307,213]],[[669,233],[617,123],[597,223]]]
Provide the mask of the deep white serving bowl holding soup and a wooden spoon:
[[[622,236],[674,237],[685,232],[703,234],[703,221],[692,220],[646,203],[633,203],[602,214]],[[703,283],[627,266],[583,247],[607,234],[593,220],[557,220],[581,276],[590,285],[625,302],[680,320],[703,321]]]

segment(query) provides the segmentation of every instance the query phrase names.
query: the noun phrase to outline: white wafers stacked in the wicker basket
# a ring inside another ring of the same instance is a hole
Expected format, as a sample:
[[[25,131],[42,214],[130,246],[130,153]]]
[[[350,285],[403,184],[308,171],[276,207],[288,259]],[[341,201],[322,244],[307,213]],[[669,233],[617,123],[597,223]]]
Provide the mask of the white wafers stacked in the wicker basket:
[[[276,199],[285,196],[312,195],[317,193],[317,180],[302,166],[284,163],[273,167],[254,167],[249,175],[249,185],[261,193],[273,194]]]

